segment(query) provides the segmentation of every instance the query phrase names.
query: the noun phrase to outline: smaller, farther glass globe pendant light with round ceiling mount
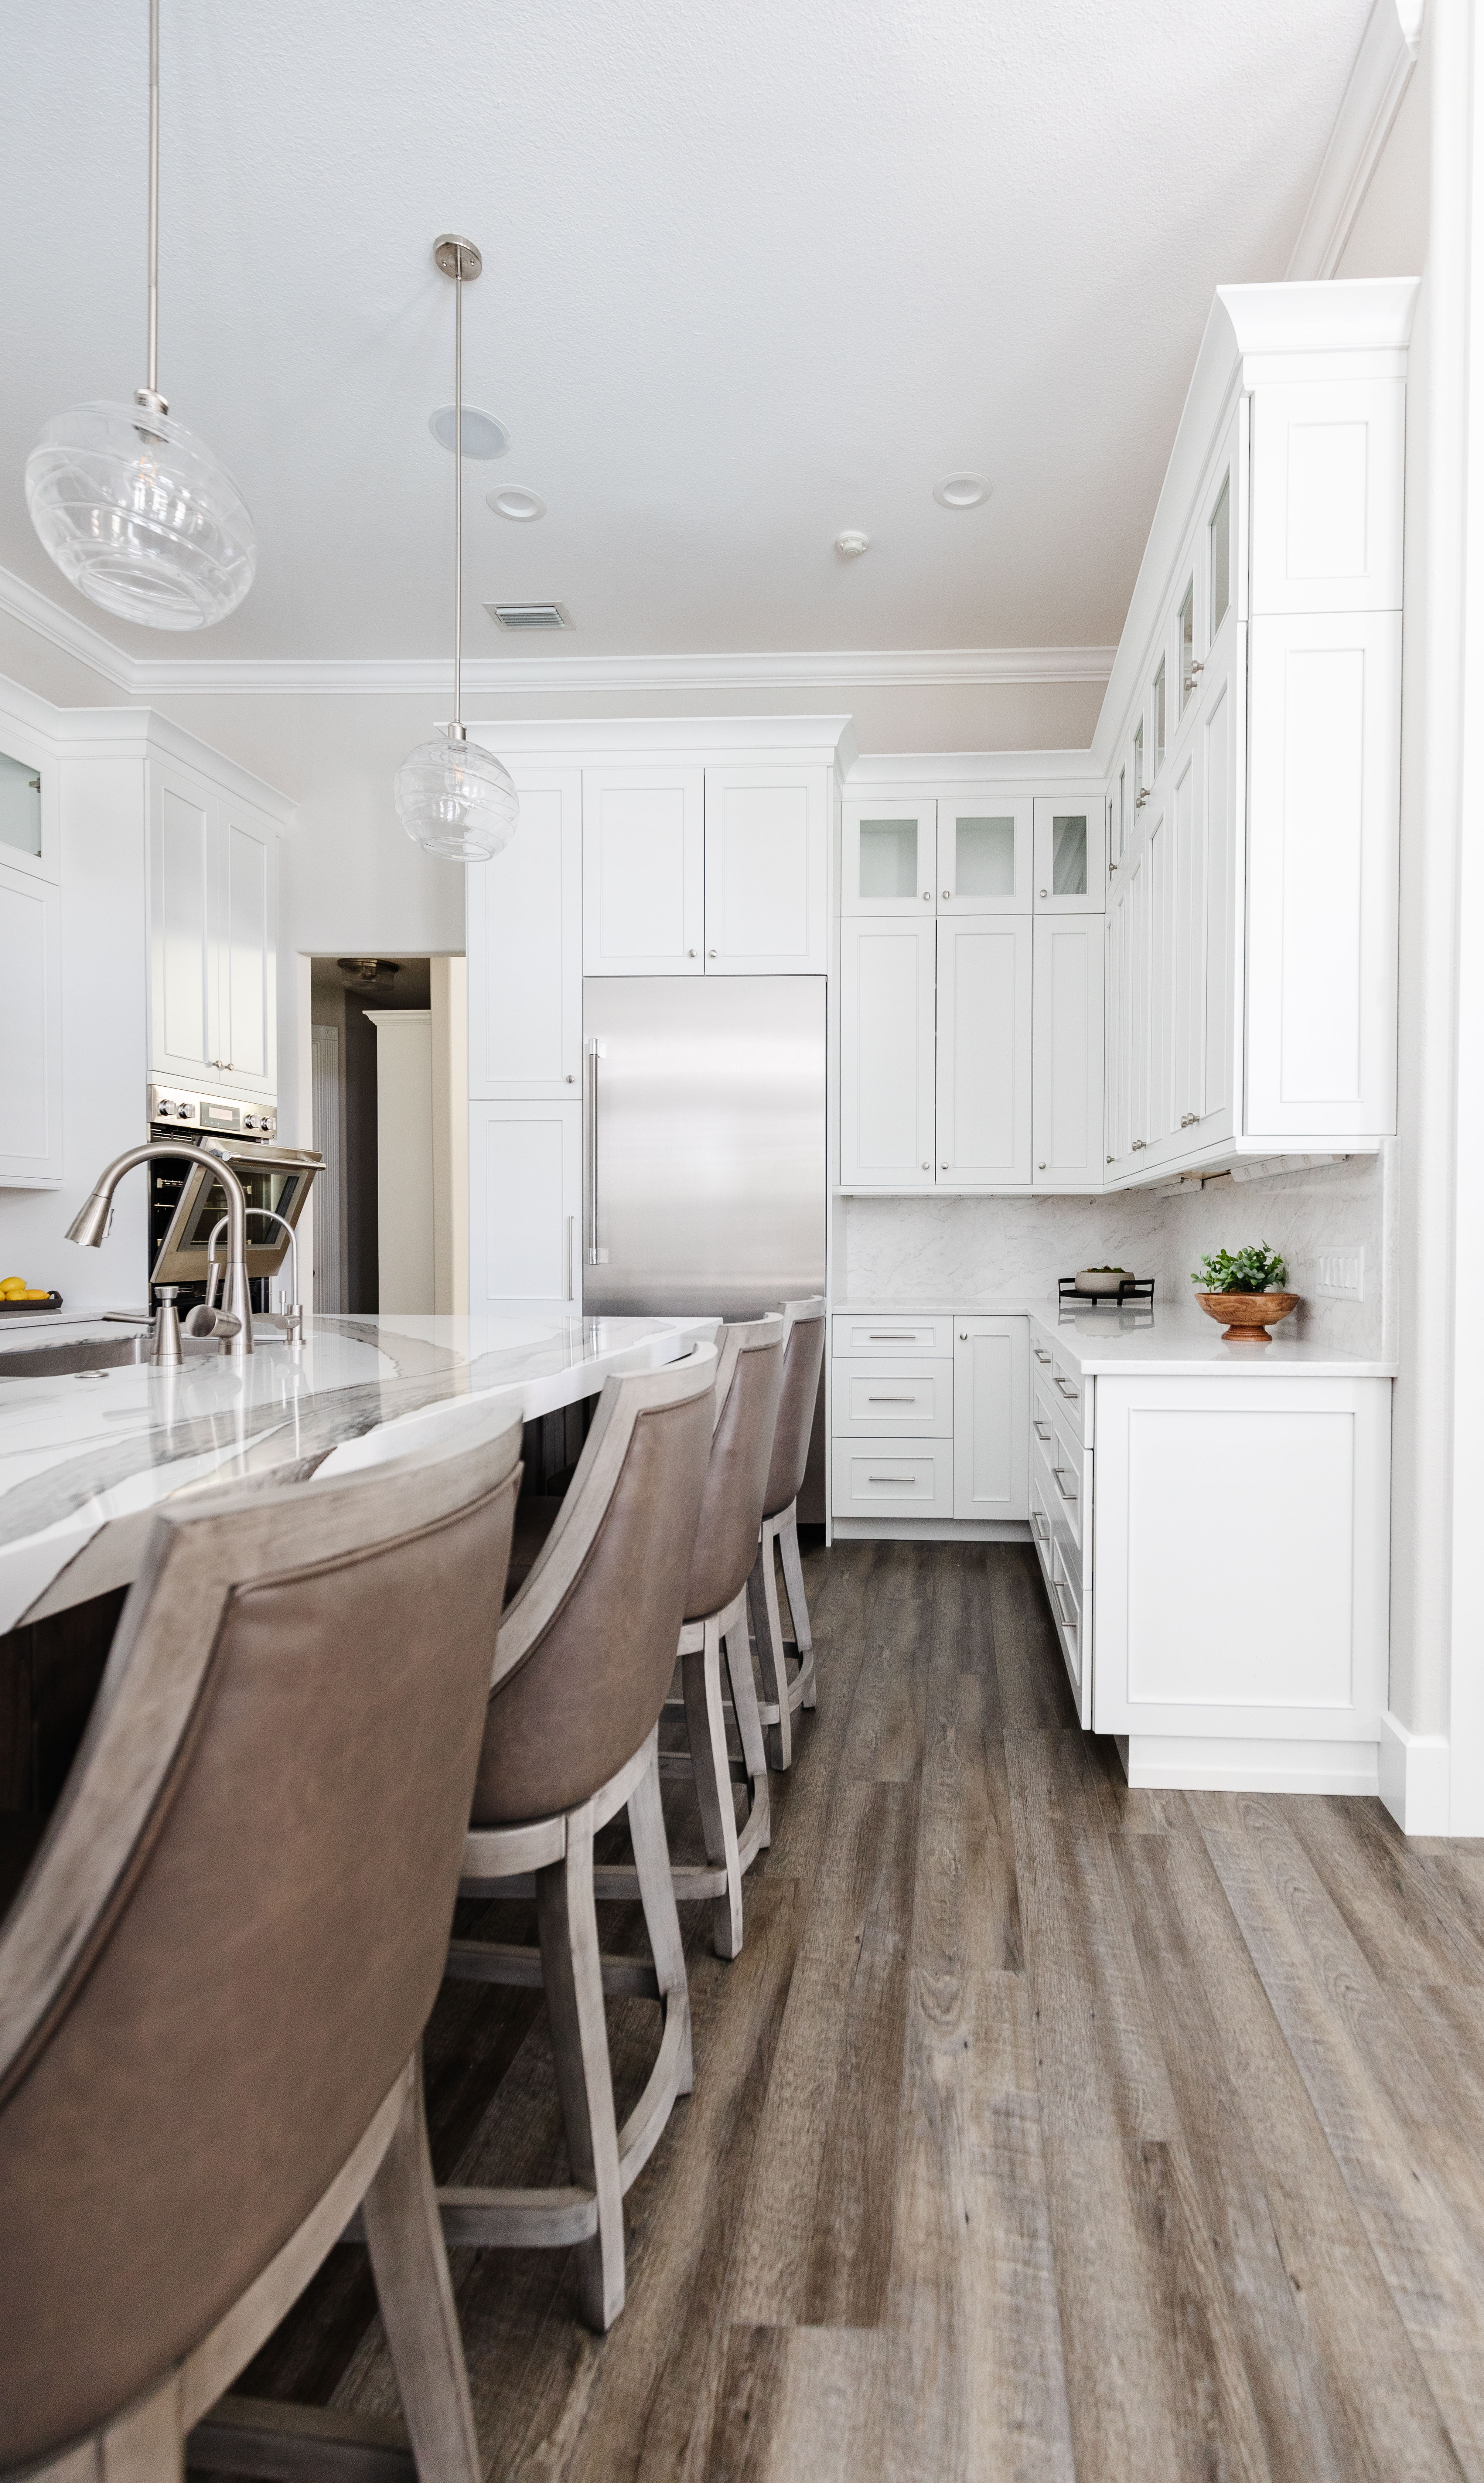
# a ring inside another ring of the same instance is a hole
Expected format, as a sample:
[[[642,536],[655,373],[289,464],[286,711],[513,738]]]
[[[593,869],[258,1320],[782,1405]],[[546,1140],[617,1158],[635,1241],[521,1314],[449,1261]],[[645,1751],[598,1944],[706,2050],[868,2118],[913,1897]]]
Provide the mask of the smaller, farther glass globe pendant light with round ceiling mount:
[[[439,233],[434,263],[454,278],[454,720],[419,742],[392,780],[397,817],[424,854],[489,862],[521,817],[521,797],[491,750],[469,745],[462,715],[464,670],[464,286],[484,258],[462,233]]]

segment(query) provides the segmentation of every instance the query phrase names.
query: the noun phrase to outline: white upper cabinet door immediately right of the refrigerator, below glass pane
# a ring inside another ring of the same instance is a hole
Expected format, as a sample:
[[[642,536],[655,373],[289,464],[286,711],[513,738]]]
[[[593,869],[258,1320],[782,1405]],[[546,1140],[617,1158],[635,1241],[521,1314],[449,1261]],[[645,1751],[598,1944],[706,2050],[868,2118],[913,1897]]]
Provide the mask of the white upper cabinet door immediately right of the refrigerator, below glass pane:
[[[933,1187],[933,916],[839,934],[839,1177]]]

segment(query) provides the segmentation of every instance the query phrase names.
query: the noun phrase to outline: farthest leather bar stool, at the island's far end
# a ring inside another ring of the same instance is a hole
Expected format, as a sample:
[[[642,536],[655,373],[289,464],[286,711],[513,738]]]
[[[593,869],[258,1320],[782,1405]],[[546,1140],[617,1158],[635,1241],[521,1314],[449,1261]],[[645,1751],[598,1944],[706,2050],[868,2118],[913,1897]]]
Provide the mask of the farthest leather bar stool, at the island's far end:
[[[814,1639],[809,1634],[809,1604],[804,1602],[804,1567],[799,1562],[799,1490],[809,1465],[809,1433],[814,1430],[814,1405],[819,1403],[819,1371],[824,1368],[824,1294],[807,1301],[784,1301],[784,1386],[779,1395],[779,1425],[772,1440],[772,1465],[762,1500],[762,1534],[757,1559],[747,1582],[752,1629],[762,1661],[759,1716],[767,1741],[767,1758],[774,1768],[794,1765],[794,1713],[814,1706]],[[794,1624],[794,1659],[799,1671],[789,1676],[787,1644],[779,1614],[779,1587],[774,1544],[784,1564],[784,1589],[789,1619]]]

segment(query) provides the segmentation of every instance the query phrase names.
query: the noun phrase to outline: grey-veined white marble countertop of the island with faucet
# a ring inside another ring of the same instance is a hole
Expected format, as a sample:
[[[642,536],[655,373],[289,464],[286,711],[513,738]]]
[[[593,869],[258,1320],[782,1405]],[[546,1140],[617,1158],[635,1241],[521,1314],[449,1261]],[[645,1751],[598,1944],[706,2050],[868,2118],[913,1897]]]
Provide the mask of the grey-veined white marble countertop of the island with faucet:
[[[268,1323],[238,1368],[191,1353],[179,1371],[122,1363],[5,1378],[7,1348],[107,1338],[102,1318],[0,1331],[0,1631],[127,1584],[161,1500],[270,1472],[454,1398],[506,1398],[534,1420],[596,1395],[613,1371],[675,1361],[712,1318],[330,1318],[293,1353]],[[380,1443],[377,1443],[380,1445]],[[387,1443],[390,1448],[390,1443]]]

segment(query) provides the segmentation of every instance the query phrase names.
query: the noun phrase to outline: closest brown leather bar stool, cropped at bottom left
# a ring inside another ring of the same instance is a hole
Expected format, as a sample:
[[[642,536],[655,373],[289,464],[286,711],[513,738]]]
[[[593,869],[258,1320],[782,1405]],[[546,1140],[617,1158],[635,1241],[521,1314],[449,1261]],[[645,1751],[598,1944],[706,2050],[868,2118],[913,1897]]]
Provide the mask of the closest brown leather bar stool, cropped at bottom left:
[[[156,1517],[0,1932],[0,2473],[179,2478],[213,2406],[194,2461],[251,2411],[303,2473],[216,2401],[360,2205],[419,2478],[481,2483],[419,2039],[519,1453]]]

